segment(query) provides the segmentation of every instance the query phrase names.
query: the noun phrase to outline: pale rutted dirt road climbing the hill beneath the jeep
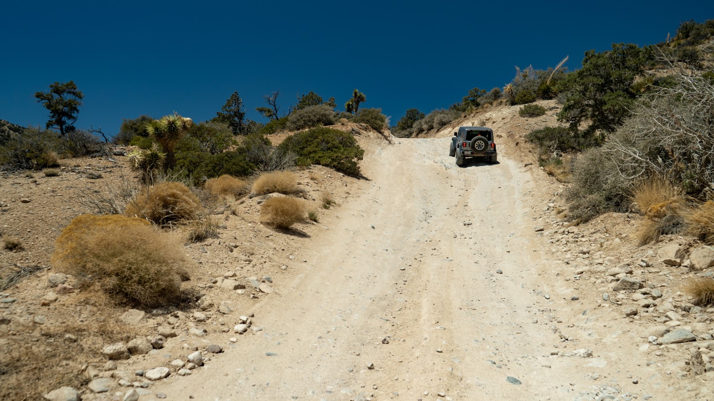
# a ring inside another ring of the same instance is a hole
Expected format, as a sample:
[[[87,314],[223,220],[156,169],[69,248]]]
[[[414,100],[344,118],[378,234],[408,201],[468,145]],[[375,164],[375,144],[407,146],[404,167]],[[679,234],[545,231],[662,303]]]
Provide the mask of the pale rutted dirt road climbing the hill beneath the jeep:
[[[152,390],[169,400],[588,400],[598,386],[664,388],[596,311],[545,278],[531,171],[508,155],[458,168],[447,147],[373,148],[369,181],[296,255],[306,263],[294,280],[244,312],[263,330],[225,335],[238,342],[223,355]]]

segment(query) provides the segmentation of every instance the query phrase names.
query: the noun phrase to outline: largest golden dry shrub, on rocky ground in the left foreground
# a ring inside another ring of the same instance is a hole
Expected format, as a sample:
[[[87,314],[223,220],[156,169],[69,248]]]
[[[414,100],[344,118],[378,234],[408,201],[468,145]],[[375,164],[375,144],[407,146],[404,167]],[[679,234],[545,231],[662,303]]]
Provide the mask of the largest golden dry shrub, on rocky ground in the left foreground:
[[[144,307],[179,303],[189,266],[181,240],[123,215],[74,218],[57,238],[51,263],[83,287]]]

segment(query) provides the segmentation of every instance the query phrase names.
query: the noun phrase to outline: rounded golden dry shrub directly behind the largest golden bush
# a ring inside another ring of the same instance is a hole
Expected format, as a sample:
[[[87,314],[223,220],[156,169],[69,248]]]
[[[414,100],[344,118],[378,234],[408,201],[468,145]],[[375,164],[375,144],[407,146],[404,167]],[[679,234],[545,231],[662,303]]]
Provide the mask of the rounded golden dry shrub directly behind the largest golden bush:
[[[166,225],[180,220],[193,220],[200,210],[201,201],[187,186],[166,181],[144,188],[126,205],[124,214]]]

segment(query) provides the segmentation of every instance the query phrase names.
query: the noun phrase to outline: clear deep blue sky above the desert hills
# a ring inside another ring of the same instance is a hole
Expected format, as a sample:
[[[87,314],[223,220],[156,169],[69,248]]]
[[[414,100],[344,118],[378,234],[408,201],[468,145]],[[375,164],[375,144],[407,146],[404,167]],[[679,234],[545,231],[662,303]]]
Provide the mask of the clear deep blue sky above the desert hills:
[[[74,80],[78,128],[123,118],[215,116],[238,91],[247,117],[263,95],[334,96],[395,124],[469,89],[503,87],[514,66],[580,68],[589,49],[664,41],[714,1],[7,1],[0,22],[0,119],[41,125],[34,93]]]

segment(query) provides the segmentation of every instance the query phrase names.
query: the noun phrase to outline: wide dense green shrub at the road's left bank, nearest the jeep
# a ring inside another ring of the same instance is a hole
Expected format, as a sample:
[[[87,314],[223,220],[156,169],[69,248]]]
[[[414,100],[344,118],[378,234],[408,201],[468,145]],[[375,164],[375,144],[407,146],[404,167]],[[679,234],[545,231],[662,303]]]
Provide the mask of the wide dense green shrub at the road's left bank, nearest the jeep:
[[[364,155],[353,136],[324,127],[298,132],[286,138],[278,150],[295,153],[298,166],[319,164],[352,176],[360,173],[358,161]]]

